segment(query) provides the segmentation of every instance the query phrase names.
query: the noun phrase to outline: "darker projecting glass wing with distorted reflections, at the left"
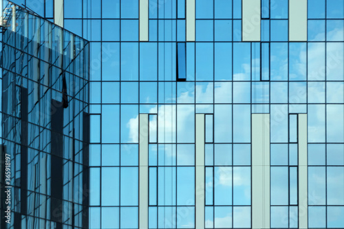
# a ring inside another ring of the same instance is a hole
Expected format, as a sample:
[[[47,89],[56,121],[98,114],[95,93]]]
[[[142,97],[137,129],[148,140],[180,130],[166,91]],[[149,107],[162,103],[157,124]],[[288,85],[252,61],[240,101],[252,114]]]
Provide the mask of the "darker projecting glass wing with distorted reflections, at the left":
[[[88,228],[89,42],[3,6],[0,228]]]

